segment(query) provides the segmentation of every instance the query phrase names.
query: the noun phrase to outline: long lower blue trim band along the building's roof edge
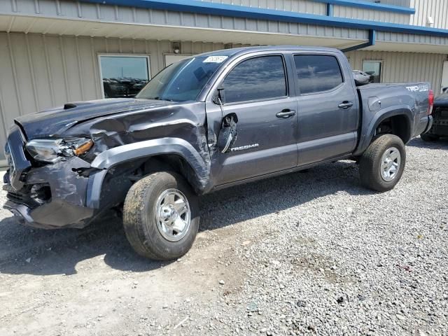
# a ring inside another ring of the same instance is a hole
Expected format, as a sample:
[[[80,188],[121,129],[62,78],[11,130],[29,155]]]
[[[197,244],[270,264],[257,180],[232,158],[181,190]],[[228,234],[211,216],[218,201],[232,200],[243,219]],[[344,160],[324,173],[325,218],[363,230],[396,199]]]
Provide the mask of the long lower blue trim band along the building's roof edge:
[[[373,29],[393,33],[421,34],[448,38],[448,29],[399,25],[396,23],[355,20],[349,18],[336,18],[325,15],[288,12],[285,10],[272,10],[247,6],[227,5],[194,0],[79,0],[81,2],[100,3],[127,7],[152,8],[158,10],[171,10],[174,12],[188,12],[203,15],[221,15],[232,18],[247,18],[253,20],[271,20],[281,22],[303,23],[307,25],[320,25],[353,29]],[[328,0],[327,0],[328,1]]]

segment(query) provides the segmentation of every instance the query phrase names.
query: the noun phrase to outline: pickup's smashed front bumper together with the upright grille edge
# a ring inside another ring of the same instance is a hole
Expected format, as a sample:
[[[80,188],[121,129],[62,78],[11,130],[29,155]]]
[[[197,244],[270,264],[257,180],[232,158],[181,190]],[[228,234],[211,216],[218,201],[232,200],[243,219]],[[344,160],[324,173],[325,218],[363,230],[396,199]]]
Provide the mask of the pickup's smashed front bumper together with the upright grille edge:
[[[25,155],[25,137],[18,127],[10,130],[5,148],[9,169],[3,176],[6,203],[20,222],[36,228],[83,228],[97,209],[87,207],[89,177],[79,169],[90,163],[73,157],[42,167],[31,167]]]

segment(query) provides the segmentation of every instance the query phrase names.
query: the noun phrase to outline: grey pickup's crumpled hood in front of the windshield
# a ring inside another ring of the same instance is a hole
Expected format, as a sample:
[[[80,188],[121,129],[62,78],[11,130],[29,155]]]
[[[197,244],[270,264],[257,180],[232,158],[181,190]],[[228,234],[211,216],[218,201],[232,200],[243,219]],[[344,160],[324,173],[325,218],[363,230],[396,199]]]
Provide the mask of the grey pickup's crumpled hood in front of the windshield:
[[[76,107],[64,109],[64,106],[59,106],[54,109],[21,116],[16,118],[15,121],[22,125],[28,139],[35,139],[37,137],[62,134],[62,132],[68,130],[73,125],[82,123],[85,120],[109,116],[114,113],[156,109],[173,103],[162,100],[120,98],[70,104]]]

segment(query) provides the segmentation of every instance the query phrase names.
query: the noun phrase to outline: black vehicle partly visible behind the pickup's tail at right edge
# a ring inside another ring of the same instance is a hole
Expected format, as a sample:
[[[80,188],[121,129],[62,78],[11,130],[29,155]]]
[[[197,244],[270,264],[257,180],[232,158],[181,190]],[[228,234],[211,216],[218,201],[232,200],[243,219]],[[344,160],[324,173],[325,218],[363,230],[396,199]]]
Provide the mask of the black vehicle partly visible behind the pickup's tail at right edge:
[[[444,87],[443,92],[434,100],[433,127],[428,133],[421,134],[423,141],[437,141],[441,137],[448,137],[448,87]]]

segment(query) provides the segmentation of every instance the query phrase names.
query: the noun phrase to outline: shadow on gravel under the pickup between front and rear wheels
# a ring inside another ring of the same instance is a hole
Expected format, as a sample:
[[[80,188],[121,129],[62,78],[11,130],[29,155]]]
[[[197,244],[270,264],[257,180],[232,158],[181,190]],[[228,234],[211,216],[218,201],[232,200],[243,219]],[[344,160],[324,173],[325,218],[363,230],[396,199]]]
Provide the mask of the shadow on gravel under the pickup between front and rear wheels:
[[[360,186],[354,162],[339,161],[202,197],[200,230],[223,228],[335,193],[374,194]]]

